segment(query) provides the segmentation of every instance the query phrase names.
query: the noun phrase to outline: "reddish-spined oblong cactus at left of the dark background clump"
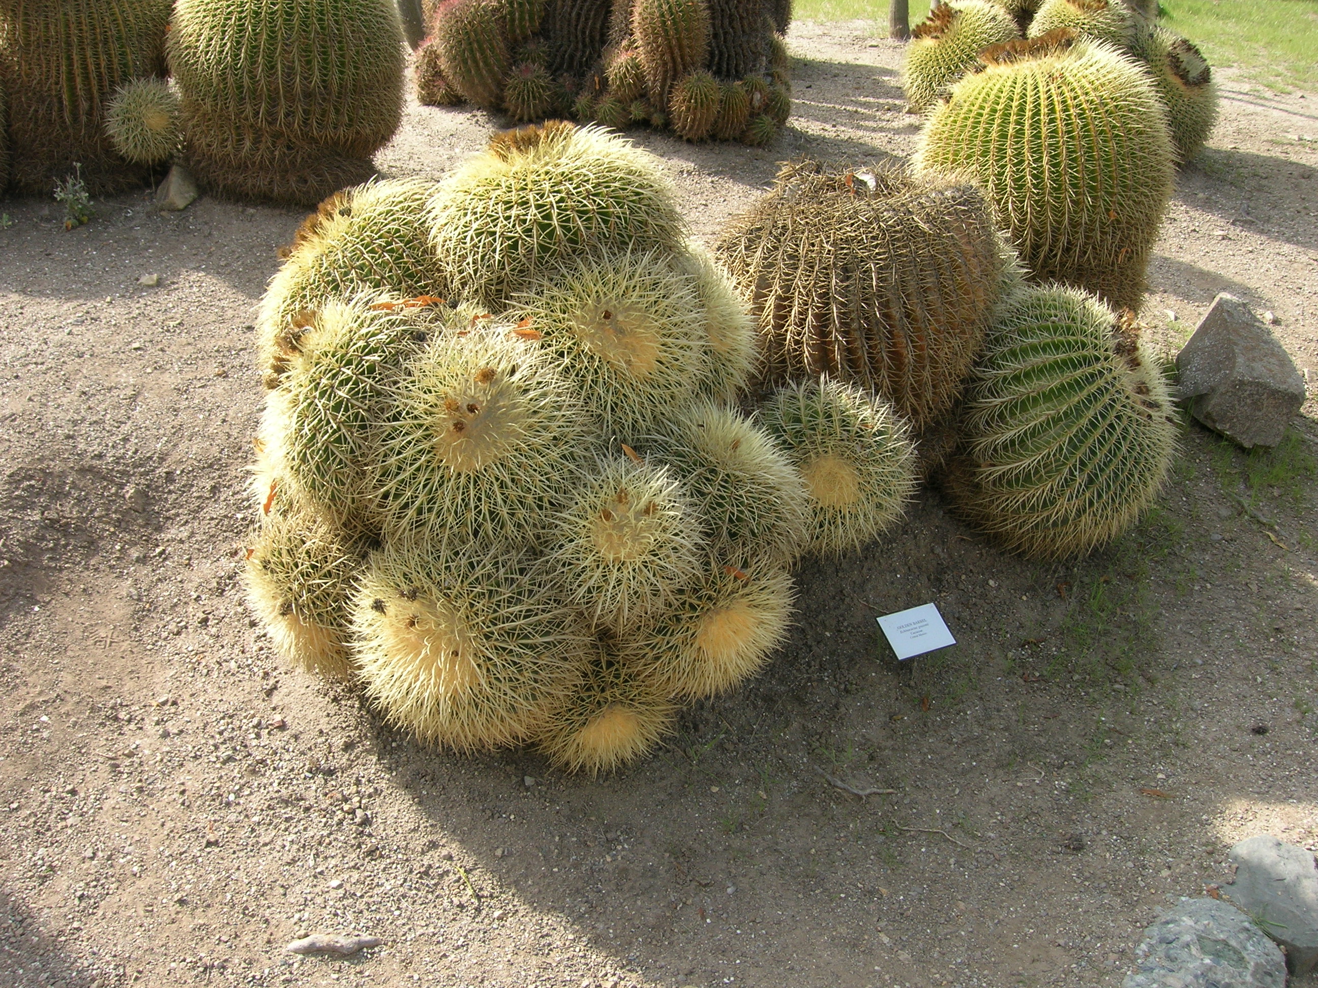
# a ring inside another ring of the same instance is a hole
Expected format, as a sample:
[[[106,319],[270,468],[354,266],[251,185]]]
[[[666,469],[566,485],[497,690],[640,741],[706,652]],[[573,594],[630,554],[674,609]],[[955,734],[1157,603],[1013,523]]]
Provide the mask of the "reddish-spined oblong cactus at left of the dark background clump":
[[[448,0],[435,14],[434,38],[440,70],[463,96],[486,109],[503,105],[513,57],[497,0]]]

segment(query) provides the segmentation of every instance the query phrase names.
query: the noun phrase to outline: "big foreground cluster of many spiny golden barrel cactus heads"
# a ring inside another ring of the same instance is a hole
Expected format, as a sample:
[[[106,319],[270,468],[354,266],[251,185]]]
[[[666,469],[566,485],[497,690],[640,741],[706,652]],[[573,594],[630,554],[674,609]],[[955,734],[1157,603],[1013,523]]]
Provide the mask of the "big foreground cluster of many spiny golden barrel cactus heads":
[[[768,660],[797,556],[871,540],[911,485],[875,399],[737,410],[753,337],[656,162],[600,128],[335,196],[261,307],[248,588],[275,647],[457,751],[652,750]]]

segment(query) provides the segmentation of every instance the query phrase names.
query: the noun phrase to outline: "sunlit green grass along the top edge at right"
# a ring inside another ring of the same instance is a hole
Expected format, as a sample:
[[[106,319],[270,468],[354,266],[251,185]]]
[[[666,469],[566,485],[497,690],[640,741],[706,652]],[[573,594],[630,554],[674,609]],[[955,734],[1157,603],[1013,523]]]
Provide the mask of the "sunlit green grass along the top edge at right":
[[[911,26],[929,13],[912,0]],[[874,21],[887,33],[888,4],[867,0],[797,0],[801,21]],[[1198,45],[1215,66],[1278,90],[1318,90],[1318,0],[1162,0],[1162,24]]]

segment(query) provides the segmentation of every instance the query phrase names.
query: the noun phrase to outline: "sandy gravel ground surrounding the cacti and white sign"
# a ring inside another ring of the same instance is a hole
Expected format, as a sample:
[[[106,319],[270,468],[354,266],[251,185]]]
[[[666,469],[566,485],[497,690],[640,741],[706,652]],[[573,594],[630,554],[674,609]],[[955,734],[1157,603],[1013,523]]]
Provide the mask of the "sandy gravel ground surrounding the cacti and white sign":
[[[791,47],[774,146],[637,134],[701,236],[779,159],[912,149],[898,46]],[[1318,369],[1318,99],[1224,75],[1147,315],[1174,345],[1230,290]],[[438,177],[500,123],[413,107],[381,169]],[[0,983],[1115,985],[1232,842],[1318,847],[1313,480],[1257,486],[1269,527],[1193,427],[1153,515],[1074,565],[923,491],[803,566],[772,667],[634,771],[416,747],[281,665],[243,603],[253,306],[301,217],[96,208],[66,233],[0,206]],[[960,644],[899,667],[874,618],[927,601]],[[283,952],[310,931],[385,943]]]

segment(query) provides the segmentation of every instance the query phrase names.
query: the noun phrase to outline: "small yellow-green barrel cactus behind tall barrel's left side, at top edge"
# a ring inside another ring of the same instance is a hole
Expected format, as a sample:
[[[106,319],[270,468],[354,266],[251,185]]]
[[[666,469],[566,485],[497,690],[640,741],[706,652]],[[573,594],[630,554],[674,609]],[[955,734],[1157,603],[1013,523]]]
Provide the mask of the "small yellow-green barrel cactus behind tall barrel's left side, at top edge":
[[[946,96],[956,82],[979,66],[979,53],[1019,37],[1007,11],[986,0],[953,0],[929,12],[911,33],[902,61],[902,90],[913,111]]]

